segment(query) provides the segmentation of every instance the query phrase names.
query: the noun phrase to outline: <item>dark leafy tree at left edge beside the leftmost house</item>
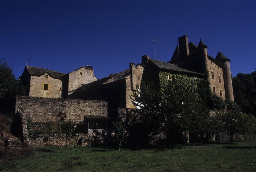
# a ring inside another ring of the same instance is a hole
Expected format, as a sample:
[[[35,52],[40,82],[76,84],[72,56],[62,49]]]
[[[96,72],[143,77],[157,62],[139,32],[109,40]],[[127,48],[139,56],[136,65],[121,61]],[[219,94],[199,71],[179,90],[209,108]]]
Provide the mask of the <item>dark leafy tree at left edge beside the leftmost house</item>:
[[[12,68],[6,61],[0,60],[0,98],[25,95],[25,88],[16,81]]]

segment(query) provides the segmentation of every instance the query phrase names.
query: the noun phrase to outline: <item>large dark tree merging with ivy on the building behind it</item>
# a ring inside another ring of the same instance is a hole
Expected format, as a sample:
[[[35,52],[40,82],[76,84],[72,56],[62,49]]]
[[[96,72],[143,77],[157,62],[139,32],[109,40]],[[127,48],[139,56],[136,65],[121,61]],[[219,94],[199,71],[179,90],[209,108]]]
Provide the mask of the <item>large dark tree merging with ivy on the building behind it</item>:
[[[206,105],[206,101],[198,93],[202,79],[168,75],[160,72],[159,86],[153,82],[142,82],[140,91],[133,94],[135,106],[140,107],[135,110],[140,114],[140,121],[147,125],[152,136],[164,132],[167,144],[170,143],[173,132],[182,133],[191,128],[201,131],[198,126],[200,124],[196,123],[196,126],[193,123],[194,116],[198,116],[200,121]]]

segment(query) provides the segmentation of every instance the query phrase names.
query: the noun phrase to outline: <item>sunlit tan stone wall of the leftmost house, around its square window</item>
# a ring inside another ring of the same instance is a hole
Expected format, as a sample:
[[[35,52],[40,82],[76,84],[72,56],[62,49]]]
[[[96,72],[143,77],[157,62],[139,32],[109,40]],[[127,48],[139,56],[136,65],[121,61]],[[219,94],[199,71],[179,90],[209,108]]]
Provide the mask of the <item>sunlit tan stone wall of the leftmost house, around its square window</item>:
[[[45,77],[47,75],[47,78]],[[44,90],[44,84],[48,84],[48,90]],[[47,73],[41,76],[31,76],[29,96],[45,98],[61,98],[62,81],[52,78]]]

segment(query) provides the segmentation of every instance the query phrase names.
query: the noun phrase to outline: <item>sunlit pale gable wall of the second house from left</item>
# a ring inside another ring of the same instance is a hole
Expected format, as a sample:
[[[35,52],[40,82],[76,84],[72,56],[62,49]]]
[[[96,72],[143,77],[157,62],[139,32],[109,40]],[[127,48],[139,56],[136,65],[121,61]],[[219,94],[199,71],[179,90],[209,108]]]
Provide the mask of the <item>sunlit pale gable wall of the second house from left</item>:
[[[68,74],[68,94],[72,93],[81,85],[96,81],[92,68],[80,67]]]

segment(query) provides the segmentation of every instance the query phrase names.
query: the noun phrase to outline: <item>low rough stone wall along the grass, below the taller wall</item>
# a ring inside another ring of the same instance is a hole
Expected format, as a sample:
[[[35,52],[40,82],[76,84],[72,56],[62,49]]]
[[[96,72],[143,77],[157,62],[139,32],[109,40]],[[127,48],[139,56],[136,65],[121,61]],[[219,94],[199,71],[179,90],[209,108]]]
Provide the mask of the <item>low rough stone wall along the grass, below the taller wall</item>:
[[[104,134],[73,134],[71,137],[66,138],[66,134],[40,134],[36,138],[29,139],[30,146],[76,146],[81,145],[89,146],[89,145],[104,145],[111,144],[114,142],[114,133],[104,133]],[[68,140],[68,142],[67,142]]]

